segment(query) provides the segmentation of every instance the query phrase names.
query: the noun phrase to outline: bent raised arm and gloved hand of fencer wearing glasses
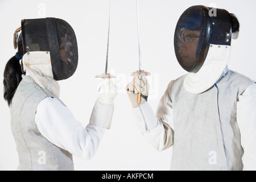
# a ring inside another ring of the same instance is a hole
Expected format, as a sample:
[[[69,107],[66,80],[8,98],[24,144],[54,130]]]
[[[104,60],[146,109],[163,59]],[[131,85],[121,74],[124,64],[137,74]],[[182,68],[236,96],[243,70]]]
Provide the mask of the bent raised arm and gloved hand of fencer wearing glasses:
[[[129,82],[127,85],[127,94],[133,105],[133,115],[135,117],[135,122],[139,130],[142,132],[144,138],[152,144],[157,150],[165,150],[168,147],[171,147],[173,144],[174,132],[171,129],[172,125],[172,105],[170,94],[168,93],[171,87],[172,82],[168,85],[166,93],[158,106],[157,115],[155,115],[151,106],[148,102],[143,102],[142,104],[137,104],[138,90],[148,90],[149,86],[147,84],[146,78],[143,78],[143,83],[139,85],[137,77],[134,77],[134,80]],[[147,85],[147,89],[146,89]],[[141,88],[140,88],[141,87]],[[134,92],[132,90],[135,90]],[[137,90],[137,91],[136,91]]]

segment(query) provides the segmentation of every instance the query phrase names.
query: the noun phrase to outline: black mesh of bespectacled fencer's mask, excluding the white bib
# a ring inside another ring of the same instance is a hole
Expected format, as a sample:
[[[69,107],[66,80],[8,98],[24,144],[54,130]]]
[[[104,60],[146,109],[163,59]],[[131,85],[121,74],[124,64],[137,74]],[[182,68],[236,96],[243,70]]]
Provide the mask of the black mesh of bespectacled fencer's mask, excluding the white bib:
[[[232,28],[227,11],[216,9],[217,16],[210,16],[209,9],[211,8],[205,6],[189,7],[177,22],[174,35],[175,55],[185,71],[198,72],[204,64],[210,44],[222,45],[221,41],[214,40],[224,38],[225,36],[220,36],[220,32],[230,32]]]

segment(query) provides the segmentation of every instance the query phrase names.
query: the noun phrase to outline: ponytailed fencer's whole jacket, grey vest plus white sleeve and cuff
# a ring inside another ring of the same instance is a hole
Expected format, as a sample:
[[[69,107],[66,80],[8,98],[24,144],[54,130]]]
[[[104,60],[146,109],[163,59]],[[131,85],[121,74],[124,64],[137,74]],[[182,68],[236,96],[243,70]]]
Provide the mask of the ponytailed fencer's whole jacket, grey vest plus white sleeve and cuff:
[[[113,107],[96,102],[89,124],[84,127],[61,100],[31,76],[22,75],[10,105],[18,169],[73,170],[72,155],[91,159],[110,127]]]

